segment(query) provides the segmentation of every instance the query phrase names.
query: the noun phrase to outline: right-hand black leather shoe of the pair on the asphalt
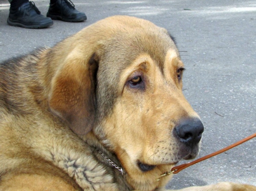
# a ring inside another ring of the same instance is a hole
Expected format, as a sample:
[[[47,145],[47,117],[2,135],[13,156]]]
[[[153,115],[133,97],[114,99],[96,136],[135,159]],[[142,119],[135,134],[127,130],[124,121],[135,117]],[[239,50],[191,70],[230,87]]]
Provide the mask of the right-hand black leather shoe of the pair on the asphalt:
[[[87,20],[83,12],[77,11],[74,4],[70,0],[56,0],[50,3],[47,17],[53,20],[63,20],[66,22],[79,22]]]

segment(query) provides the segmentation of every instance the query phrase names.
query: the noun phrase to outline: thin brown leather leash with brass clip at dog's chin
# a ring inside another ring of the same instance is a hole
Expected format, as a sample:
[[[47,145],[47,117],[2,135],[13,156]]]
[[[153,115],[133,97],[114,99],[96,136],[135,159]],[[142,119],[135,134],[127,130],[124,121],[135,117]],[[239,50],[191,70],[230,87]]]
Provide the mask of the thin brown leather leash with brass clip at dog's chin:
[[[160,178],[166,177],[166,176],[168,176],[170,174],[177,174],[178,172],[182,171],[183,169],[185,169],[185,168],[187,168],[187,167],[189,167],[191,165],[194,165],[194,164],[196,164],[198,162],[201,162],[203,160],[209,159],[210,157],[214,157],[215,155],[221,154],[221,153],[223,153],[223,152],[225,152],[225,151],[227,151],[227,150],[229,150],[231,148],[236,147],[237,145],[240,145],[240,144],[242,144],[242,143],[244,143],[244,142],[246,142],[246,141],[248,141],[250,139],[253,139],[254,137],[256,137],[256,133],[254,133],[254,134],[250,135],[249,137],[246,137],[246,138],[244,138],[244,139],[242,139],[242,140],[240,140],[240,141],[238,141],[238,142],[236,142],[236,143],[234,143],[234,144],[232,144],[230,146],[222,148],[221,150],[216,151],[216,152],[214,152],[212,154],[208,154],[208,155],[206,155],[204,157],[201,157],[201,158],[199,158],[197,160],[194,160],[192,162],[188,162],[188,163],[185,163],[185,164],[182,164],[182,165],[175,166],[175,167],[172,168],[172,170],[166,171],[165,173],[161,174],[160,177],[156,179],[156,181],[160,181]]]

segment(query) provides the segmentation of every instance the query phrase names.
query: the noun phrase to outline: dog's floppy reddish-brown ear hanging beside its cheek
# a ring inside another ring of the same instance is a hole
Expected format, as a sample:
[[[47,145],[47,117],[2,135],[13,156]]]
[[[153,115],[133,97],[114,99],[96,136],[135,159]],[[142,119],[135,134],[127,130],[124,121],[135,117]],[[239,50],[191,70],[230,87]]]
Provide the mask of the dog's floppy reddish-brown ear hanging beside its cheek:
[[[95,54],[86,58],[73,51],[51,82],[50,110],[79,135],[87,134],[93,127],[97,69]]]

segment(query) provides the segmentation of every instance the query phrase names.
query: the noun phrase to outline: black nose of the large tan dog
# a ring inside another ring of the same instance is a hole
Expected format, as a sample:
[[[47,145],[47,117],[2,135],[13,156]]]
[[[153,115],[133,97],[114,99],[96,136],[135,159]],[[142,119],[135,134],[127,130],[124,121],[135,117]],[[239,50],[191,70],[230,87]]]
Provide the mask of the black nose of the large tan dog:
[[[201,140],[204,132],[204,125],[198,118],[188,118],[181,120],[175,126],[174,133],[178,139],[187,146],[193,146]]]

